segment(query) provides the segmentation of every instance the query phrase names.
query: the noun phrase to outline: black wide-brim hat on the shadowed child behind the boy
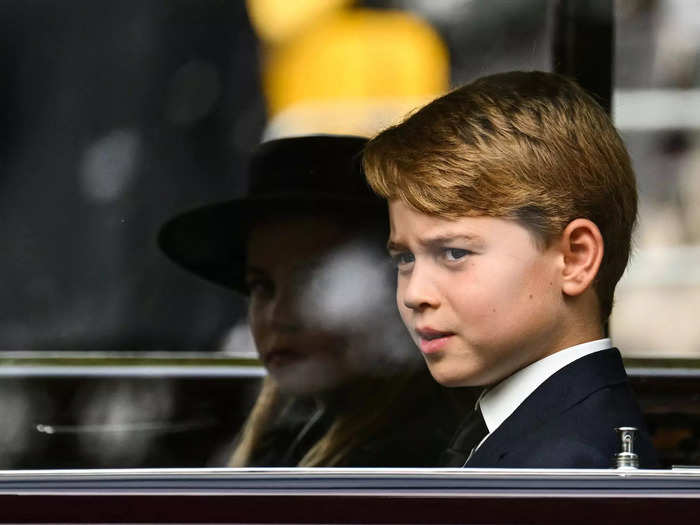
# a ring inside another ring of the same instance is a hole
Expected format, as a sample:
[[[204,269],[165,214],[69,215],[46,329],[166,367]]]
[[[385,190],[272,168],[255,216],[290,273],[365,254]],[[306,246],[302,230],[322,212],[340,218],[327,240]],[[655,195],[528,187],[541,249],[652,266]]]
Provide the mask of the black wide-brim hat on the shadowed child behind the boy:
[[[385,229],[386,203],[372,193],[362,172],[366,143],[366,138],[343,135],[262,143],[250,162],[246,195],[177,215],[160,229],[158,245],[186,270],[246,293],[248,233],[262,220],[343,215]]]

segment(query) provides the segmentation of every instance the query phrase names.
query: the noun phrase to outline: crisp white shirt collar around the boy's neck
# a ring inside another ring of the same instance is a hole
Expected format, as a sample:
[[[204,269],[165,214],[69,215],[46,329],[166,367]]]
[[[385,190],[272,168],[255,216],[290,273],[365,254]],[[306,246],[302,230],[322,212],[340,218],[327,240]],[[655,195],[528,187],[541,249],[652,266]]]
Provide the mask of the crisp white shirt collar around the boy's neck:
[[[479,398],[489,429],[496,430],[537,387],[555,372],[588,354],[612,348],[610,339],[598,339],[560,350],[526,366],[485,391]]]

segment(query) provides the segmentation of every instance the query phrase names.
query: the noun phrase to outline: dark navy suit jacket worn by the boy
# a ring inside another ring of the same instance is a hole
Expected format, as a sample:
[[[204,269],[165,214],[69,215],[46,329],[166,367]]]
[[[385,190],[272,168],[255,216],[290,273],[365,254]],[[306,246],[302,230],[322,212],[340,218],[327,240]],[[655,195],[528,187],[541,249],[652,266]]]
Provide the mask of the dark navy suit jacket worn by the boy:
[[[616,348],[558,370],[484,441],[466,467],[609,468],[620,451],[616,427],[640,430],[640,467],[657,466],[641,410]]]

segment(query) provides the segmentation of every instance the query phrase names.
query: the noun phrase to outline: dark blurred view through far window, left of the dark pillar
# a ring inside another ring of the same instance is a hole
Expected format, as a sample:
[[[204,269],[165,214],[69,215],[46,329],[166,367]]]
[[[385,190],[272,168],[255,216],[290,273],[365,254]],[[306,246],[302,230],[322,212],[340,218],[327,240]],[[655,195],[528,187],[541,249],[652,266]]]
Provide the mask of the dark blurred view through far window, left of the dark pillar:
[[[452,85],[547,69],[549,18],[544,0],[4,0],[0,348],[244,350],[242,300],[167,261],[158,227],[240,195],[263,139],[368,135]]]

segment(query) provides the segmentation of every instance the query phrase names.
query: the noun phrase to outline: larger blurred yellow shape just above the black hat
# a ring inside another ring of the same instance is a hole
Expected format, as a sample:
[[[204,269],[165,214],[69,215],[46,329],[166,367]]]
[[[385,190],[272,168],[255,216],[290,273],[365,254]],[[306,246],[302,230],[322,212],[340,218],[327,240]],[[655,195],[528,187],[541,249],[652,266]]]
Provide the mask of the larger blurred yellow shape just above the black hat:
[[[448,82],[447,48],[430,25],[408,13],[370,9],[328,15],[270,48],[263,73],[273,117],[314,101],[429,100]]]

